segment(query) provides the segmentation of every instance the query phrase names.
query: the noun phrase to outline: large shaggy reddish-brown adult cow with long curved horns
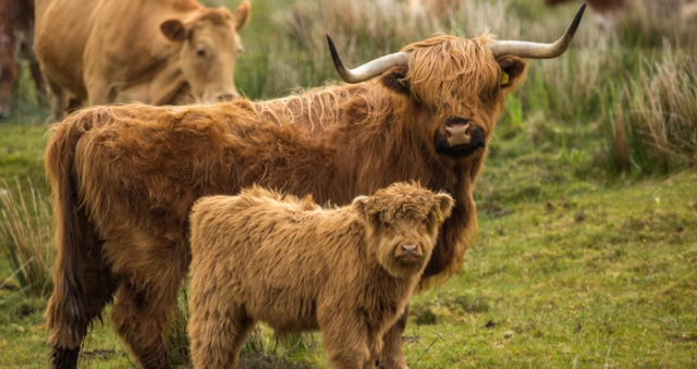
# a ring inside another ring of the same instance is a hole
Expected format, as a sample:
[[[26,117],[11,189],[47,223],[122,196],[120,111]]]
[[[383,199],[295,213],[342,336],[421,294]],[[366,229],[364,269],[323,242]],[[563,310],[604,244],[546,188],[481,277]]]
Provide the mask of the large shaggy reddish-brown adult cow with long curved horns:
[[[54,366],[72,366],[90,322],[111,321],[144,367],[169,366],[167,332],[191,254],[196,199],[257,184],[345,205],[394,182],[455,199],[421,286],[457,271],[477,231],[474,183],[523,58],[568,47],[437,36],[355,70],[353,85],[209,107],[94,107],[56,125],[46,167],[56,196],[54,291],[46,318]],[[375,78],[374,78],[375,77]],[[360,82],[366,79],[365,82]],[[404,319],[381,364],[406,368]]]

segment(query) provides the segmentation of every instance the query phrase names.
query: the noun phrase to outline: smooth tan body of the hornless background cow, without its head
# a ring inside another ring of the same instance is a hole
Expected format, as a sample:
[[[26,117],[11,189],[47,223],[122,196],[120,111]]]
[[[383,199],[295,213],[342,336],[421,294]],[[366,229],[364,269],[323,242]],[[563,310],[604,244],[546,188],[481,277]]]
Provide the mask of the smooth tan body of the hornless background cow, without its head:
[[[143,79],[143,71],[152,73],[176,48],[160,24],[185,21],[198,9],[196,1],[176,0],[39,0],[34,47],[48,77],[86,99],[90,81],[123,87]]]

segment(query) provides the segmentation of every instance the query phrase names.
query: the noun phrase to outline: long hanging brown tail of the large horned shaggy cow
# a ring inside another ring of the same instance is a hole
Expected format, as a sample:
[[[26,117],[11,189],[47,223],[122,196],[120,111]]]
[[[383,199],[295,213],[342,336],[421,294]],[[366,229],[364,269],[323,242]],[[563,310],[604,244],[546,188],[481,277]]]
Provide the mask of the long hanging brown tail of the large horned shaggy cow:
[[[93,127],[90,110],[77,112],[53,126],[46,150],[46,171],[53,188],[57,257],[53,294],[46,309],[49,344],[53,349],[78,349],[91,317],[85,293],[82,255],[91,247],[93,230],[81,208],[75,151]]]

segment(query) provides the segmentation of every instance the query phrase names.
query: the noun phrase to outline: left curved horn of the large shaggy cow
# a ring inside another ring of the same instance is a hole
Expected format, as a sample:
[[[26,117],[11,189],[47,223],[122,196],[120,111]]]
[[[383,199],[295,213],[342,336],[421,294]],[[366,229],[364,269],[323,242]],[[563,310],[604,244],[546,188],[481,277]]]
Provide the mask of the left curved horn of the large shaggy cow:
[[[331,37],[329,35],[327,35],[327,41],[329,42],[329,51],[331,52],[331,59],[334,61],[334,66],[337,67],[337,72],[339,72],[341,79],[350,84],[356,84],[359,82],[370,79],[375,76],[378,76],[384,73],[384,71],[391,69],[392,66],[408,65],[409,53],[395,52],[395,53],[391,53],[389,56],[384,56],[376,60],[369,61],[360,66],[350,70],[341,61],[341,58],[339,58],[339,53],[337,52],[334,42],[331,40]]]

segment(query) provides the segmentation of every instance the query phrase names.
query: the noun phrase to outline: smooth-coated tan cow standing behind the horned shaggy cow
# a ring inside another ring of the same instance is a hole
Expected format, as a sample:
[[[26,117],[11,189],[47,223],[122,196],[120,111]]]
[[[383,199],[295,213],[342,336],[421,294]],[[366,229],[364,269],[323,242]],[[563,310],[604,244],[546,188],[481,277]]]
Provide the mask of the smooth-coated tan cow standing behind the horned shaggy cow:
[[[38,0],[34,48],[48,84],[53,118],[89,104],[204,102],[236,97],[237,30],[233,13],[195,0]]]

